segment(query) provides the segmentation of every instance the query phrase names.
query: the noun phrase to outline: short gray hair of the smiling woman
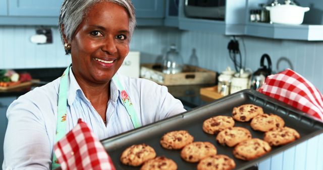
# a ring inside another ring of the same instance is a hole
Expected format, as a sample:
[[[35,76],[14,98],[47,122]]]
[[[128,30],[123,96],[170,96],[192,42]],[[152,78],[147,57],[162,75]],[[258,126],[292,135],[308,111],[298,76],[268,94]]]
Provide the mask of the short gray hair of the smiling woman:
[[[129,15],[129,41],[131,39],[132,33],[136,26],[136,16],[135,10],[131,3],[131,0],[64,0],[61,7],[61,14],[59,18],[59,29],[61,33],[61,38],[64,44],[63,35],[66,39],[71,42],[72,36],[75,33],[76,28],[82,22],[83,17],[88,12],[88,9],[96,3],[99,2],[112,2],[116,3],[126,9]],[[64,26],[64,33],[63,33]]]

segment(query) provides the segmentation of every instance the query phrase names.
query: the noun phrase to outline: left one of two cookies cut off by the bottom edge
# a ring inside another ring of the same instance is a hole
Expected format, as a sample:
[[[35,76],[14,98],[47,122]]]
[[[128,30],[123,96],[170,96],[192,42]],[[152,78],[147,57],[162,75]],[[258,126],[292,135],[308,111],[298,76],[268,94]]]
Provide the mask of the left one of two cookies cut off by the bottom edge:
[[[146,161],[140,168],[140,170],[176,170],[177,164],[174,160],[164,156],[158,156],[154,159]]]

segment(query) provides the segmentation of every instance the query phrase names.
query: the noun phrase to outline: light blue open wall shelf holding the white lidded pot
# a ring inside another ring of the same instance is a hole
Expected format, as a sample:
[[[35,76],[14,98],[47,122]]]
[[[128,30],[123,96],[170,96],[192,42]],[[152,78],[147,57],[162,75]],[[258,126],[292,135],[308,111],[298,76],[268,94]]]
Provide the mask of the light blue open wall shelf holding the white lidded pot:
[[[270,1],[269,1],[270,2]],[[279,1],[284,3],[282,1]],[[321,41],[323,40],[323,1],[303,0],[297,1],[301,7],[309,7],[310,10],[304,15],[301,25],[270,24],[250,22],[246,20],[246,35],[273,38]],[[259,4],[267,4],[267,0],[248,0],[246,15],[250,16],[250,10],[259,9]]]

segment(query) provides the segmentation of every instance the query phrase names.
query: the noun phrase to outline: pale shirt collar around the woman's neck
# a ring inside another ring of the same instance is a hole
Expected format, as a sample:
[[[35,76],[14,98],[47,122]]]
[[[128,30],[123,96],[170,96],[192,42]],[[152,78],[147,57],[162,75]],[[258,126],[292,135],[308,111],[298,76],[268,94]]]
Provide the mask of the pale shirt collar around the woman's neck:
[[[69,90],[68,90],[67,102],[70,106],[73,105],[73,102],[75,101],[76,96],[88,101],[88,99],[85,97],[81,87],[79,86],[79,84],[77,83],[77,81],[75,79],[75,76],[72,71],[72,67],[70,67],[69,82],[68,83],[69,83]],[[117,99],[119,97],[121,97],[120,96],[121,92],[120,92],[116,82],[114,82],[113,80],[111,80],[111,82],[110,82],[110,90],[111,90],[110,100],[113,102],[116,102]]]

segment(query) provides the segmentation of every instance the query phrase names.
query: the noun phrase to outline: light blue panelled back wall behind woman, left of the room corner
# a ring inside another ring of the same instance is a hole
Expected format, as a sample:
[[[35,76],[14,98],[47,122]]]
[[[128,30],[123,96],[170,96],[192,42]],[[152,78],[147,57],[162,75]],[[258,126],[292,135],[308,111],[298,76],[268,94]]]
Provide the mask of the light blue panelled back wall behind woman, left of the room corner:
[[[71,57],[65,55],[57,27],[52,27],[52,44],[33,44],[35,35],[31,26],[0,26],[0,69],[7,68],[49,68],[66,67]],[[141,51],[141,62],[155,62],[161,59],[168,44],[180,44],[181,34],[177,29],[136,29],[130,50]]]

